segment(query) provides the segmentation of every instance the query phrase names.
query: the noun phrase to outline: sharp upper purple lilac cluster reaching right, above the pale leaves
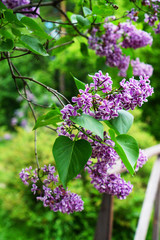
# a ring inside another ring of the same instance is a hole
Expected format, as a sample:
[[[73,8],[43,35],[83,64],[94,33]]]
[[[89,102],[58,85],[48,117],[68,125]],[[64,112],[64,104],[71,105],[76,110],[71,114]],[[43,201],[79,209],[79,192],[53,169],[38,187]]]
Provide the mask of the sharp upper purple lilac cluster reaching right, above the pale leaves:
[[[113,82],[108,73],[103,75],[99,71],[90,77],[92,77],[93,83],[87,84],[85,90],[79,90],[77,97],[72,98],[73,105],[68,104],[61,110],[65,123],[60,132],[65,132],[65,126],[72,124],[70,117],[77,116],[80,110],[96,119],[110,120],[118,116],[118,110],[133,110],[136,106],[142,106],[147,101],[147,97],[153,93],[147,76],[140,76],[140,80],[136,80],[134,77],[129,81],[123,79],[120,82],[120,89],[114,91],[112,89]],[[100,92],[103,95],[99,94]]]

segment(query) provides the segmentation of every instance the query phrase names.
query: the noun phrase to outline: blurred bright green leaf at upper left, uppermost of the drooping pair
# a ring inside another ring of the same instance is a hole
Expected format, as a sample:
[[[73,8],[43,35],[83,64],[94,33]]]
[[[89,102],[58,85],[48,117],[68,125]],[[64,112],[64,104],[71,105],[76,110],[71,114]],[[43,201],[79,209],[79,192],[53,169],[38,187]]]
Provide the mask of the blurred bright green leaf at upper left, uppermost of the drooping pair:
[[[29,17],[23,17],[21,22],[28,27],[35,35],[44,38],[44,39],[52,39],[33,19]]]

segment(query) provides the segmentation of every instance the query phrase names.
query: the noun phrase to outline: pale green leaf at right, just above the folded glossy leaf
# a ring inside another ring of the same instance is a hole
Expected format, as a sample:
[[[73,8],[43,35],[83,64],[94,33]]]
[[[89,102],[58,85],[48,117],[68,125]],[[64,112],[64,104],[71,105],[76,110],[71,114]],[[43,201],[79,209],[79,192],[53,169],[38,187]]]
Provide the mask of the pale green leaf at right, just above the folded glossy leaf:
[[[128,132],[133,124],[134,117],[131,113],[125,110],[118,111],[119,116],[111,119],[110,121],[104,121],[110,128],[113,128],[117,135],[125,134]]]

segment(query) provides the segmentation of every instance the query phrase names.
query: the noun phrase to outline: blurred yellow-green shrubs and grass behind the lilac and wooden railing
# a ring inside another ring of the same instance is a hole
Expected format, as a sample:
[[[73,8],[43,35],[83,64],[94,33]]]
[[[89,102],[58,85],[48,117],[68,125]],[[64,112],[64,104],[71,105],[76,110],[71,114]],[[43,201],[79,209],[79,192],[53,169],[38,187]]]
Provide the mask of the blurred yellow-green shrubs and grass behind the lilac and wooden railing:
[[[74,2],[67,6],[69,10],[73,11],[75,8]],[[53,14],[49,9],[45,11],[50,16]],[[144,25],[143,28],[147,30],[147,26]],[[23,75],[63,92],[69,99],[77,94],[70,73],[81,81],[89,82],[88,74],[94,74],[101,69],[104,73],[110,73],[116,85],[121,80],[117,76],[118,70],[107,67],[105,59],[96,56],[92,50],[88,50],[88,55],[81,52],[80,43],[83,41],[79,37],[73,45],[55,52],[52,57],[26,56],[23,61],[15,59],[14,63]],[[157,144],[160,139],[159,36],[154,35],[152,48],[146,47],[132,54],[154,67],[151,84],[155,94],[141,109],[133,111],[135,122],[130,130],[139,146],[145,149]],[[130,74],[129,72],[128,76]],[[41,87],[35,88],[32,84],[30,87],[34,92],[31,97],[39,104],[51,104],[55,101],[52,95],[46,94]],[[36,167],[32,131],[34,123],[27,104],[18,97],[5,61],[0,63],[0,89],[0,240],[93,239],[101,195],[90,185],[88,175],[84,174],[82,179],[70,184],[71,190],[82,195],[85,202],[83,212],[71,215],[53,213],[44,208],[19,179],[22,168],[30,165]],[[39,115],[45,112],[38,107],[36,110]],[[53,163],[51,150],[55,138],[52,131],[38,129],[38,155],[41,165]],[[126,200],[114,199],[113,240],[133,239],[154,160],[150,159],[133,177],[123,174],[126,180],[132,182],[134,189]],[[152,225],[149,227],[147,240],[151,239],[151,234]]]

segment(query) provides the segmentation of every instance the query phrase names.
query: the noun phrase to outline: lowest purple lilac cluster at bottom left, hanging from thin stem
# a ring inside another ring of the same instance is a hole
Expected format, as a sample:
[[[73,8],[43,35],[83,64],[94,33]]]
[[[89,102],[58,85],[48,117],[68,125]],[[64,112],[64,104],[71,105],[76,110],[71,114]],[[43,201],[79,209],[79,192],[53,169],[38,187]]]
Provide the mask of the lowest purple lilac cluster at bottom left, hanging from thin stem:
[[[22,169],[19,175],[25,185],[31,184],[31,191],[37,195],[37,200],[43,202],[44,207],[67,214],[83,210],[80,196],[65,190],[61,185],[57,186],[58,175],[55,175],[54,166],[45,165],[41,168],[40,174],[37,169],[32,170],[32,167],[29,167]]]

